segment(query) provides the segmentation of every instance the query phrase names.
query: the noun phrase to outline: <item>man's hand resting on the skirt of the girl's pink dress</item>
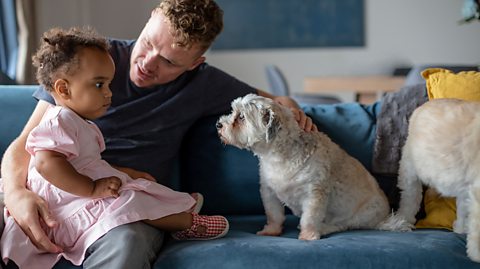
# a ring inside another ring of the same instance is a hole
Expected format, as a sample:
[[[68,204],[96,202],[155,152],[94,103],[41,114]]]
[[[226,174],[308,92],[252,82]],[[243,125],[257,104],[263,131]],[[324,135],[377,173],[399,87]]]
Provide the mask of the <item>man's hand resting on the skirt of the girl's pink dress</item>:
[[[40,225],[42,222],[54,228],[58,223],[48,210],[47,203],[37,194],[27,189],[12,191],[5,196],[5,205],[10,215],[38,249],[51,253],[63,251],[60,246],[50,241]]]

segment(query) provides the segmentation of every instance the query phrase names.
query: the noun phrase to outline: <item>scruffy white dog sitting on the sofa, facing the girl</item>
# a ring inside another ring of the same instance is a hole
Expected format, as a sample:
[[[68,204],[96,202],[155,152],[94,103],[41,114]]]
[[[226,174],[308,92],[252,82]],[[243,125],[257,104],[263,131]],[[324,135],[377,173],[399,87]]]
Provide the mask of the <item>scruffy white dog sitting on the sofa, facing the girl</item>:
[[[390,211],[385,194],[362,164],[325,134],[303,131],[290,109],[254,94],[234,100],[232,109],[217,129],[225,144],[259,158],[267,224],[258,234],[282,233],[284,205],[300,217],[303,240],[385,226]]]

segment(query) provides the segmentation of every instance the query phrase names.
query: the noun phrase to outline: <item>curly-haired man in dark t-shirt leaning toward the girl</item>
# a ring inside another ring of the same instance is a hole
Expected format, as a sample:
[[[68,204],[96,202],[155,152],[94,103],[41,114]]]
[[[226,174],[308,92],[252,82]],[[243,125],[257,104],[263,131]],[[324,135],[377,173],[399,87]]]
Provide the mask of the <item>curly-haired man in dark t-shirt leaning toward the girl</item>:
[[[201,117],[228,111],[234,98],[252,92],[291,107],[302,128],[316,130],[292,99],[256,90],[205,63],[203,54],[220,33],[222,16],[212,0],[164,0],[138,40],[111,40],[116,65],[112,105],[96,121],[105,136],[103,157],[109,163],[168,185],[172,160],[189,127]],[[53,104],[44,89],[34,96],[37,107],[2,161],[5,204],[38,248],[60,252],[40,226],[45,222],[54,227],[55,219],[44,201],[25,188],[27,134]],[[161,231],[143,223],[117,227],[90,246],[83,267],[149,268],[162,239]],[[61,264],[72,267],[65,260]]]

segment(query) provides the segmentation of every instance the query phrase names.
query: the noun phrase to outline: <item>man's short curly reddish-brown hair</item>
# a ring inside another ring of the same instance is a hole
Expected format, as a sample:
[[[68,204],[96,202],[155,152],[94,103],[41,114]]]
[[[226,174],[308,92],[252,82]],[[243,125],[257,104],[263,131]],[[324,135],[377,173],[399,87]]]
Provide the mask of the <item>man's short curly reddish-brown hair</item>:
[[[206,50],[223,29],[223,11],[213,0],[163,0],[155,10],[169,20],[174,46]]]

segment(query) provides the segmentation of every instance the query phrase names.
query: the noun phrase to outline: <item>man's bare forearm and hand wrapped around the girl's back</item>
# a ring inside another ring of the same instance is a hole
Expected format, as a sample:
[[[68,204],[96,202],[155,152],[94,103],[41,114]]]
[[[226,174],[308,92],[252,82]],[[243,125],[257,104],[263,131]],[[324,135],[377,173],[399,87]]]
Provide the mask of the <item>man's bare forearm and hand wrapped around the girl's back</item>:
[[[57,222],[51,216],[45,201],[26,188],[30,155],[25,150],[25,144],[28,134],[40,123],[49,106],[45,101],[38,102],[21,134],[5,151],[1,171],[5,205],[10,215],[39,249],[55,253],[62,250],[48,239],[39,219],[42,218],[49,227],[55,227]]]

